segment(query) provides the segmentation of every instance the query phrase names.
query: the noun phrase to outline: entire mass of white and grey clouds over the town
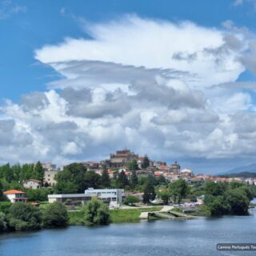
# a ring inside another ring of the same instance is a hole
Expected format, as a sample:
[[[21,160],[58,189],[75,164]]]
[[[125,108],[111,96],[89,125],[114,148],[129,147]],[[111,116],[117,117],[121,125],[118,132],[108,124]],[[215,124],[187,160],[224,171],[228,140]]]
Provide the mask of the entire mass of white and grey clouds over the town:
[[[86,31],[36,50],[62,79],[1,107],[0,162],[99,160],[125,146],[167,161],[254,158],[254,83],[235,82],[253,48],[245,30],[127,16]]]

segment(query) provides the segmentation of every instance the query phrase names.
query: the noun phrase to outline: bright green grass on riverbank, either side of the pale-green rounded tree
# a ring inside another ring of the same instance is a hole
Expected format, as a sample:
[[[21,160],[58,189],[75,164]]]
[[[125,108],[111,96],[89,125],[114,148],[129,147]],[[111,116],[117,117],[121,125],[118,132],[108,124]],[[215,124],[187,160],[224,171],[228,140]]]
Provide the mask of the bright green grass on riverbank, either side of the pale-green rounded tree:
[[[148,208],[134,208],[134,209],[117,209],[110,210],[110,218],[113,223],[121,222],[138,222],[139,215],[145,211],[158,211],[162,206],[152,206]],[[68,212],[69,225],[83,225],[84,214],[82,211],[70,211]]]

